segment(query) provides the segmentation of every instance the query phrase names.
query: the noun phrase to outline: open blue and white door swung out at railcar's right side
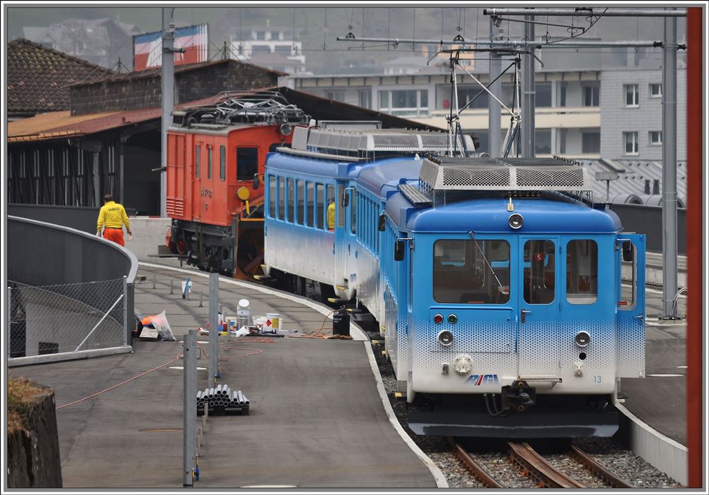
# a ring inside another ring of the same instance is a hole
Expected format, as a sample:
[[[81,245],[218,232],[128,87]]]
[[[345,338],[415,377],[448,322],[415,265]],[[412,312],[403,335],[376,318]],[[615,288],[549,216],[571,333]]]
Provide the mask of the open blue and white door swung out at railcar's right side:
[[[645,374],[645,236],[618,235],[618,377]]]

